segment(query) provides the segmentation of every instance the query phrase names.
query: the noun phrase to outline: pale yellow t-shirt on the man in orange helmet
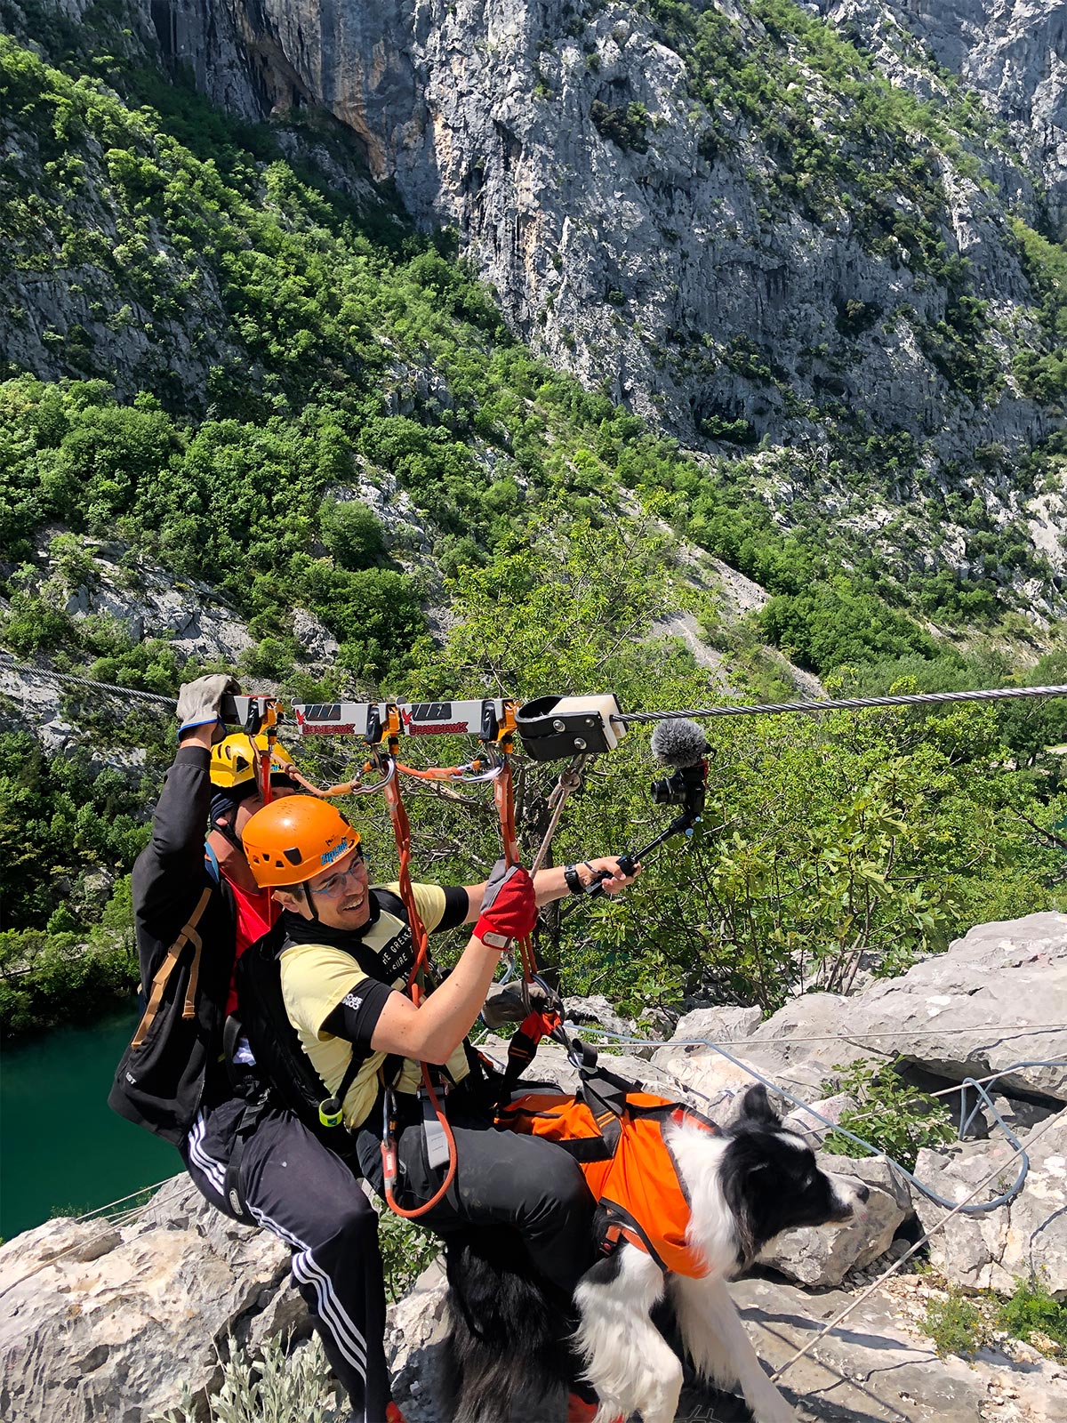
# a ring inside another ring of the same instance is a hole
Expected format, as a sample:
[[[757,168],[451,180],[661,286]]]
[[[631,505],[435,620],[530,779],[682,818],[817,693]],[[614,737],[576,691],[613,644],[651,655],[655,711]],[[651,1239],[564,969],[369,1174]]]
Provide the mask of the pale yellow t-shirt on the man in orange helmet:
[[[374,887],[371,887],[373,889]],[[400,892],[400,885],[381,885],[378,888]],[[440,885],[413,885],[415,906],[420,918],[432,933],[445,912],[445,895]],[[363,933],[361,942],[366,948],[381,953],[388,961],[394,941],[407,936],[407,925],[384,909],[377,921]],[[359,995],[359,985],[368,979],[359,963],[344,949],[331,948],[327,943],[292,943],[279,959],[282,968],[282,996],[285,998],[289,1022],[297,1032],[300,1046],[312,1060],[312,1066],[322,1077],[326,1093],[333,1094],[341,1084],[344,1073],[351,1062],[351,1043],[346,1037],[336,1037],[323,1030],[323,1023],[349,993]],[[394,989],[407,985],[407,972],[400,972],[393,979]],[[356,1074],[356,1080],[344,1097],[344,1124],[359,1127],[370,1114],[378,1094],[378,1067],[387,1053],[370,1053]],[[452,1081],[460,1081],[468,1073],[467,1056],[462,1044],[455,1049],[445,1063]],[[420,1064],[414,1059],[405,1057],[400,1076],[396,1081],[397,1091],[415,1093],[423,1080]]]

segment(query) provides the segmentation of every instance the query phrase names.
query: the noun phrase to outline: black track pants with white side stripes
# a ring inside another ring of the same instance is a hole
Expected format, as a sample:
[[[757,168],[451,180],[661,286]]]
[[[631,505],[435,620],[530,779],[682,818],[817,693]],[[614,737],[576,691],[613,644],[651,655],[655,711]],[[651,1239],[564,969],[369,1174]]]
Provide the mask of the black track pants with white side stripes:
[[[201,1111],[185,1153],[201,1192],[235,1220],[223,1187],[243,1109],[232,1100]],[[249,1214],[293,1252],[293,1279],[356,1423],[386,1423],[386,1288],[377,1215],[359,1181],[296,1117],[270,1109],[246,1138],[240,1188]]]

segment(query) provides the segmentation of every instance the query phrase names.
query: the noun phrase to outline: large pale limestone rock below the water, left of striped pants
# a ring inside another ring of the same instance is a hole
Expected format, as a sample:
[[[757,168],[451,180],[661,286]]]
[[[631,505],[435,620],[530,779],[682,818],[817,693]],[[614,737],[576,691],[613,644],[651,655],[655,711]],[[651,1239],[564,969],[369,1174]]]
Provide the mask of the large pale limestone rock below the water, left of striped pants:
[[[0,1248],[0,1423],[147,1423],[218,1375],[218,1350],[306,1319],[289,1251],[186,1177],[132,1225],[48,1221]]]

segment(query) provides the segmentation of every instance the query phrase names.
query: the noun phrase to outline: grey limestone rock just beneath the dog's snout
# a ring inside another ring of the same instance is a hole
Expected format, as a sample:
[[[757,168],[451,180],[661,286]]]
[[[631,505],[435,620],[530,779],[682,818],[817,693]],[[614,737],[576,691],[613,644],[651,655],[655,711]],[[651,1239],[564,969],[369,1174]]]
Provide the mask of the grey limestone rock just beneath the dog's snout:
[[[808,1288],[839,1285],[849,1269],[862,1269],[883,1255],[912,1210],[908,1187],[885,1161],[828,1154],[819,1154],[818,1160],[825,1171],[865,1181],[871,1197],[861,1220],[785,1231],[764,1248],[761,1265]]]

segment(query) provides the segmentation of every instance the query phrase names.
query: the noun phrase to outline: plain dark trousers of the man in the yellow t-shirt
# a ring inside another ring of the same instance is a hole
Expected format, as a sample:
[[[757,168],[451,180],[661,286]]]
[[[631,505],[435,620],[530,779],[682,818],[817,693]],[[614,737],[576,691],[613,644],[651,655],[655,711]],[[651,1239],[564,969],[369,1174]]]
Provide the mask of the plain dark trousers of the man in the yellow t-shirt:
[[[442,1235],[469,1225],[512,1225],[531,1264],[569,1302],[575,1285],[595,1262],[593,1198],[580,1167],[552,1141],[497,1131],[478,1113],[458,1109],[461,1093],[448,1101],[455,1137],[455,1180],[444,1200],[420,1225]],[[360,1134],[360,1161],[377,1184],[378,1143]],[[418,1123],[397,1141],[401,1168],[398,1204],[405,1210],[428,1201],[444,1180],[444,1168],[427,1165],[425,1134]]]

